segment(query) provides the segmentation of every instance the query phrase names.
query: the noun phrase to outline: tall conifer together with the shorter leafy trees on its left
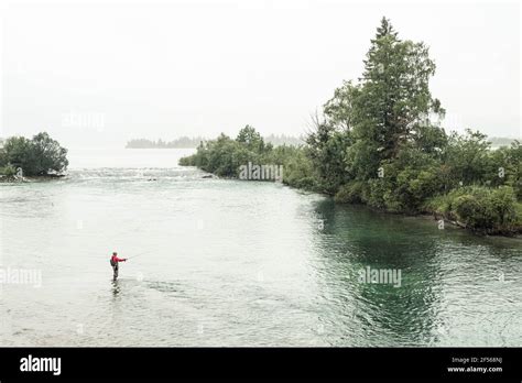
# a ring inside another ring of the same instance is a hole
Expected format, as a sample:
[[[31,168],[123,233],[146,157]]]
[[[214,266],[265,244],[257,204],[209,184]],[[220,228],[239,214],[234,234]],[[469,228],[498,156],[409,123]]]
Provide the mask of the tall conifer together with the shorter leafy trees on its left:
[[[435,64],[423,43],[401,41],[383,18],[359,84],[345,81],[324,106],[307,143],[319,182],[335,193],[351,179],[370,180],[383,162],[414,145],[439,156],[447,143],[429,116],[444,116],[428,80]]]

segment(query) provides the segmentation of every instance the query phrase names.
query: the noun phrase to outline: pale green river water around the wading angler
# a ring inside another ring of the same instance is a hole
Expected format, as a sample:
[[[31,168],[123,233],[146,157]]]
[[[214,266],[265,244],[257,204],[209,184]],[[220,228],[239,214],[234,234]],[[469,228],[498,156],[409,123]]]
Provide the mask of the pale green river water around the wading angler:
[[[520,240],[203,178],[188,152],[0,184],[1,346],[522,346]]]

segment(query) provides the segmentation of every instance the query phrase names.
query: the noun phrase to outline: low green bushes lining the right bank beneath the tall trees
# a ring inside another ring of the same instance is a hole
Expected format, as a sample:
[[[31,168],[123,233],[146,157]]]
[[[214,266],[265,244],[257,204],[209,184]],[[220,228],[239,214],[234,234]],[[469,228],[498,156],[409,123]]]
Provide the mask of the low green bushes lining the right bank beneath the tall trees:
[[[494,152],[485,145],[480,152],[475,150],[476,153],[480,153],[487,160],[482,164],[486,173],[481,182],[456,182],[458,178],[453,175],[459,171],[457,166],[461,160],[456,164],[454,161],[457,160],[436,162],[415,157],[418,153],[411,151],[401,152],[394,163],[383,163],[377,177],[351,180],[350,173],[345,171],[349,165],[341,167],[338,163],[317,162],[309,146],[272,147],[264,144],[251,128],[248,128],[251,135],[248,141],[239,139],[242,133],[236,140],[221,134],[200,145],[195,154],[182,157],[180,164],[196,166],[225,178],[241,178],[241,168],[247,164],[261,164],[259,174],[253,177],[261,182],[273,180],[264,179],[263,166],[282,166],[280,173],[285,185],[331,196],[337,204],[367,205],[377,211],[407,216],[429,214],[478,234],[513,237],[522,233],[522,190],[516,183],[519,175],[514,166],[516,156],[522,153],[518,143]],[[465,139],[476,146],[475,136]],[[483,138],[478,140],[482,142]],[[467,156],[469,153],[466,150],[457,154]],[[504,158],[499,158],[499,154]],[[425,167],[424,160],[429,167]],[[491,169],[498,164],[507,169],[502,177]],[[322,172],[331,172],[334,167],[335,178],[322,176]]]

